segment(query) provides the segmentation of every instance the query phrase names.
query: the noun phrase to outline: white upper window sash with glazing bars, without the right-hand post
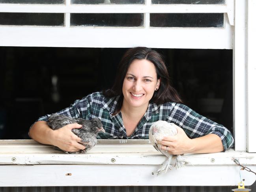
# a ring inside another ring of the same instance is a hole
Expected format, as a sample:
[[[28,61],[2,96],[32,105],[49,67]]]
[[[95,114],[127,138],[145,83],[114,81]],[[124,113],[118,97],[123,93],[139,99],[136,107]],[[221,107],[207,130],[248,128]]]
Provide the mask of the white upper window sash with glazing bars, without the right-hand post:
[[[65,13],[65,27],[0,26],[0,45],[232,49],[234,3],[226,1],[224,5],[151,5],[150,0],[145,5],[71,5],[70,0],[66,5],[1,4],[0,12]],[[145,22],[141,28],[70,27],[70,13],[145,13]],[[224,13],[224,28],[152,28],[149,13]]]

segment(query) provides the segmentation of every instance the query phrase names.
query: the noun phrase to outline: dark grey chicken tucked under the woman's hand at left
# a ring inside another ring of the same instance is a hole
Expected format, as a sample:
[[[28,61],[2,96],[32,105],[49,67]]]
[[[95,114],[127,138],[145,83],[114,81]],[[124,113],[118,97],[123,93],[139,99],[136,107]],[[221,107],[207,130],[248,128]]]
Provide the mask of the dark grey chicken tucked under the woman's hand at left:
[[[82,125],[82,128],[72,129],[71,131],[82,139],[81,144],[84,145],[86,148],[84,150],[80,150],[77,152],[65,151],[66,153],[86,153],[88,150],[92,149],[94,145],[96,145],[97,134],[99,132],[105,132],[105,130],[102,127],[101,120],[99,118],[85,120],[82,118],[71,118],[64,115],[52,114],[47,121],[47,125],[53,130],[60,129],[65,125],[71,123],[78,123]]]

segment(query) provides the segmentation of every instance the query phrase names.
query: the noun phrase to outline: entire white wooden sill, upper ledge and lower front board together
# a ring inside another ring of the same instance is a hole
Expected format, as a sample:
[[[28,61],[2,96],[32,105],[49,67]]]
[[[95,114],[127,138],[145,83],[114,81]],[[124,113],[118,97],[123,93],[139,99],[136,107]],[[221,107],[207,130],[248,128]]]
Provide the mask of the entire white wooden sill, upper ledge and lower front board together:
[[[86,154],[65,154],[33,140],[0,141],[0,186],[232,186],[237,158],[256,170],[256,154],[186,154],[187,166],[152,175],[166,160],[148,140],[99,140]],[[246,185],[256,175],[241,171]]]

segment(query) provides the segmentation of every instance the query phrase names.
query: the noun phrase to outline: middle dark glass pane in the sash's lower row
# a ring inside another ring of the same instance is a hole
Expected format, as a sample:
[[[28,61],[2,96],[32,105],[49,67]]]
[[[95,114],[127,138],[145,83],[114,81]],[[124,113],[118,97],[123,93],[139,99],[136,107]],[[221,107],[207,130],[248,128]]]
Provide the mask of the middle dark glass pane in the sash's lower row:
[[[71,26],[143,26],[143,13],[71,13]]]

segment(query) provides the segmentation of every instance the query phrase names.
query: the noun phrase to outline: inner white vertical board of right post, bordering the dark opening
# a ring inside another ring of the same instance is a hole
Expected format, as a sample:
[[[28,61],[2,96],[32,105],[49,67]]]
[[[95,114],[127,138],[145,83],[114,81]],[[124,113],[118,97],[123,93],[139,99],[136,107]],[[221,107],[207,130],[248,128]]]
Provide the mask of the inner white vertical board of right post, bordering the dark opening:
[[[233,119],[236,151],[247,151],[246,51],[246,1],[235,0]]]

